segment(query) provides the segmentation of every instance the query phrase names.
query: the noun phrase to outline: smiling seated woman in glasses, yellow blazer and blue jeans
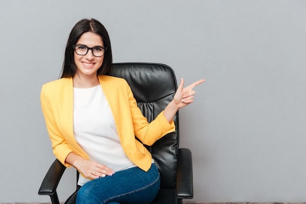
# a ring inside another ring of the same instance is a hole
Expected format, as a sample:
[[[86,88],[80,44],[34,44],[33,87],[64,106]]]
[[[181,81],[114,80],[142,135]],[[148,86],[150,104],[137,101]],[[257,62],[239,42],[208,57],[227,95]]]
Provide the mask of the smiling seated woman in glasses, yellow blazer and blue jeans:
[[[44,84],[41,92],[53,153],[80,172],[77,203],[149,204],[160,178],[142,143],[152,145],[175,131],[175,113],[194,101],[192,88],[204,80],[183,88],[182,79],[173,101],[148,123],[128,83],[108,76],[111,66],[105,27],[94,19],[76,23],[67,41],[61,79]]]

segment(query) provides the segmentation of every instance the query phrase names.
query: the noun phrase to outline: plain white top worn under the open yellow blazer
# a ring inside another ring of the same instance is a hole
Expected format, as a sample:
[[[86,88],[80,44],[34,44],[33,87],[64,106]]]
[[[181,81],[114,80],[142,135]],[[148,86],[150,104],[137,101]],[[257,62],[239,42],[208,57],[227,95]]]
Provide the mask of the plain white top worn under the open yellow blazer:
[[[115,172],[135,166],[123,151],[101,85],[73,88],[73,104],[74,137],[89,159]],[[80,174],[79,185],[88,181]]]

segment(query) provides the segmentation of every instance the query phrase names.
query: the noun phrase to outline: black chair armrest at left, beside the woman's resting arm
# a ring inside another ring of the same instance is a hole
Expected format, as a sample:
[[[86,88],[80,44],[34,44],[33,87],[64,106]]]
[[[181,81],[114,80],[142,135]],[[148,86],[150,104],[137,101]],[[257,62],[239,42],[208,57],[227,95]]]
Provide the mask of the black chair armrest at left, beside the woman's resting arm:
[[[65,170],[66,166],[64,166],[59,160],[56,159],[46,173],[38,191],[39,195],[49,195],[52,204],[59,204],[56,188]]]

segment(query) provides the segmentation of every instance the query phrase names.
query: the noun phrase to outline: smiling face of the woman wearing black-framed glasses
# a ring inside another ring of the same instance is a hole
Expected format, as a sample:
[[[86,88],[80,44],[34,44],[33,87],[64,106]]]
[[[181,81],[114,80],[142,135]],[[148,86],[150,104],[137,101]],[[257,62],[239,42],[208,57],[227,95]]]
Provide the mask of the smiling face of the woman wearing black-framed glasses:
[[[91,32],[84,33],[76,44],[82,44],[87,47],[104,47],[101,37]],[[84,56],[74,52],[74,62],[77,66],[76,74],[80,77],[97,76],[97,70],[101,67],[103,59],[104,56],[95,57],[91,50],[88,50],[87,54]]]

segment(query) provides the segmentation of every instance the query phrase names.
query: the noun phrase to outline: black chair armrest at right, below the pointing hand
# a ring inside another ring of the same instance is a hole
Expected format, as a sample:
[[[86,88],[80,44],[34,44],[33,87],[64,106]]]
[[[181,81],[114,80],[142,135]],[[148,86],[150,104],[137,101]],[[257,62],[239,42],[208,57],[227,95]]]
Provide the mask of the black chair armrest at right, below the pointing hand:
[[[177,151],[176,196],[179,199],[194,197],[192,154],[190,149]]]

